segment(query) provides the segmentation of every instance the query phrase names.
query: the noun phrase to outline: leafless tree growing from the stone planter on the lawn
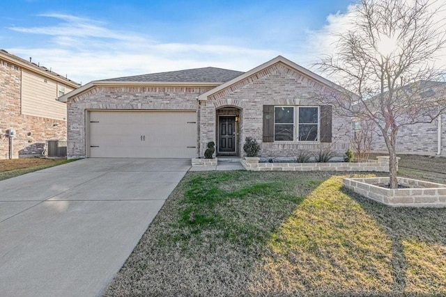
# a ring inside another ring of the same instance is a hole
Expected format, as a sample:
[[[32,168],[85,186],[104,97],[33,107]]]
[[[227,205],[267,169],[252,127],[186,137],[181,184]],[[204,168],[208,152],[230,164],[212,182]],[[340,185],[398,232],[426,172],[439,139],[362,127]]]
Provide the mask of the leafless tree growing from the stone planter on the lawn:
[[[336,52],[316,63],[354,93],[324,94],[334,111],[374,122],[390,156],[397,188],[400,127],[432,122],[446,108],[438,58],[445,48],[444,6],[428,0],[360,0],[351,29],[337,34]],[[429,91],[430,90],[430,91]],[[433,93],[432,93],[433,90]]]

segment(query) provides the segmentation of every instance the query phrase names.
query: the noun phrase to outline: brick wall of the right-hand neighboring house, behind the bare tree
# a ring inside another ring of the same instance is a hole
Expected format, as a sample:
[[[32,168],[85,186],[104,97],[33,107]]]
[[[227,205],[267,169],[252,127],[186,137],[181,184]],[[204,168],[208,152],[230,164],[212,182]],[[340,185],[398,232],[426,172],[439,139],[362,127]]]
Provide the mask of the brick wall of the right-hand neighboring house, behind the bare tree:
[[[446,156],[446,115],[442,115],[441,155]],[[374,152],[387,152],[383,136],[376,133],[373,136]],[[397,136],[398,154],[434,155],[438,152],[438,120],[431,123],[420,123],[401,127]]]

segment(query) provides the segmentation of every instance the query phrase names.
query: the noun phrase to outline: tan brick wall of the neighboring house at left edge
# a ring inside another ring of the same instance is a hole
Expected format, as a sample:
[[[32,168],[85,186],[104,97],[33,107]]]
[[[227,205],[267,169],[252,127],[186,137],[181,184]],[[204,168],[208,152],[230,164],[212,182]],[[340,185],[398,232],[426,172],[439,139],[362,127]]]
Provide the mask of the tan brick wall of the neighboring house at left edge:
[[[22,115],[20,67],[0,60],[0,159],[9,159],[8,129],[15,129],[13,158],[40,156],[45,141],[66,140],[66,121]]]

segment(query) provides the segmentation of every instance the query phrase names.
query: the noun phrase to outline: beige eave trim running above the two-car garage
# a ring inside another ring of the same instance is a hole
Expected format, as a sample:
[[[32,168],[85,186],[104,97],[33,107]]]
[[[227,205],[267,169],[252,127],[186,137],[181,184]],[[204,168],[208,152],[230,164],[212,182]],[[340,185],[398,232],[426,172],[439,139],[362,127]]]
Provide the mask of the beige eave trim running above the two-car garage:
[[[59,98],[60,102],[68,102],[70,98],[85,93],[91,88],[95,87],[217,87],[220,86],[222,82],[186,82],[186,81],[91,81],[86,85],[72,90]]]

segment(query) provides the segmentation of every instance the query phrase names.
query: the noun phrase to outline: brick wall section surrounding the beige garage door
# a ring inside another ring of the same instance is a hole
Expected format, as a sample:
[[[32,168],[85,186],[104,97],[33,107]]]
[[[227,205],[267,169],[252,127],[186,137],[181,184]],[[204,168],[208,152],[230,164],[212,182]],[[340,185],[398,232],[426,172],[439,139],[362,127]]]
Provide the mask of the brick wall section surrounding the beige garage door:
[[[68,102],[68,158],[85,158],[88,110],[195,110],[198,95],[211,88],[96,87]],[[197,113],[199,114],[199,113]],[[214,122],[215,123],[215,122]],[[198,127],[198,123],[197,123]],[[198,130],[198,128],[197,128]],[[198,133],[197,133],[198,135]],[[197,140],[198,150],[198,140]]]

